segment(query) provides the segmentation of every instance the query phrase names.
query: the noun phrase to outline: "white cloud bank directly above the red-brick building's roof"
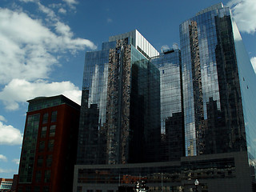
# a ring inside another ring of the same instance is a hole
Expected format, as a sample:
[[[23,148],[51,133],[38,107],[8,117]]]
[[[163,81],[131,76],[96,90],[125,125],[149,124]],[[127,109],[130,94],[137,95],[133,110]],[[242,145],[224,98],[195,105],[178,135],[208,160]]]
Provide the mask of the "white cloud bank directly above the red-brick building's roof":
[[[0,100],[2,100],[7,110],[18,110],[21,102],[26,102],[38,96],[58,94],[63,94],[74,102],[81,102],[82,91],[71,82],[46,82],[44,80],[27,82],[25,79],[13,79],[0,92]]]

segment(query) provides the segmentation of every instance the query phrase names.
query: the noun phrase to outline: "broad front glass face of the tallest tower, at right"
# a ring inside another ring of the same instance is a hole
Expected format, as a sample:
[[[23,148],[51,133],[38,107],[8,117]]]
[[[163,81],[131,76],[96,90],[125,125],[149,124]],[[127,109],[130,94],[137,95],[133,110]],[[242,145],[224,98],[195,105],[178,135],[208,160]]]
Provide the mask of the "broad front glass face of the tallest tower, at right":
[[[186,156],[246,150],[230,8],[180,25]]]

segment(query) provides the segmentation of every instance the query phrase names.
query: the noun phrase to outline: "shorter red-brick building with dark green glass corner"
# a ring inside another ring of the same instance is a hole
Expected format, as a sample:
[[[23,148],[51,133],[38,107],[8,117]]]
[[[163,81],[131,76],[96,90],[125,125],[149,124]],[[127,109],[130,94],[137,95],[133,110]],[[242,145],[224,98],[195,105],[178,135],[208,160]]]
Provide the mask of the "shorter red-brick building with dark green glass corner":
[[[63,95],[28,102],[17,191],[71,191],[80,106]]]

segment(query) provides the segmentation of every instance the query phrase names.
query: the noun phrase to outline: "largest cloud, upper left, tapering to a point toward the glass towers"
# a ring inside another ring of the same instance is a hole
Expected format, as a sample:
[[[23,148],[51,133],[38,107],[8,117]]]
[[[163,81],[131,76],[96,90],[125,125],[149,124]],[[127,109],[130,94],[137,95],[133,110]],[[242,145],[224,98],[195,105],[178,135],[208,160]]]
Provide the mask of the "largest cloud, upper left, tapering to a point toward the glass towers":
[[[55,18],[49,8],[41,10]],[[0,21],[0,84],[13,78],[47,78],[58,64],[58,54],[96,48],[90,40],[74,38],[70,27],[58,20],[50,29],[26,13],[0,8]]]

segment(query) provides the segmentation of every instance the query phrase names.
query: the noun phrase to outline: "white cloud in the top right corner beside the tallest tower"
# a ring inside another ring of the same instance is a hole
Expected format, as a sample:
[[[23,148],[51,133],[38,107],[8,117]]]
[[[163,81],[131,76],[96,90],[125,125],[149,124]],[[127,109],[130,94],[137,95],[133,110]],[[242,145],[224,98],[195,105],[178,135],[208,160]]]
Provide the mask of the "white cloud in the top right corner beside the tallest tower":
[[[255,0],[230,0],[227,6],[231,7],[235,22],[241,32],[254,34],[256,31],[256,3]]]

